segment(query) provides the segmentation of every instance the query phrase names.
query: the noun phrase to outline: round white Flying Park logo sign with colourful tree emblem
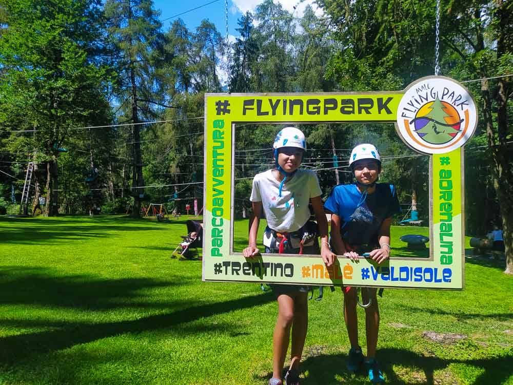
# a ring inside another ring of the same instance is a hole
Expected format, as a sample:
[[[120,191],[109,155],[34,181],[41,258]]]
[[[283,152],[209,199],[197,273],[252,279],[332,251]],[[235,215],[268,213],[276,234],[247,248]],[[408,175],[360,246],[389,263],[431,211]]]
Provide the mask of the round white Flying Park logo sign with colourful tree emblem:
[[[445,76],[427,76],[405,89],[396,129],[408,146],[433,154],[463,146],[477,123],[476,103],[465,87]]]

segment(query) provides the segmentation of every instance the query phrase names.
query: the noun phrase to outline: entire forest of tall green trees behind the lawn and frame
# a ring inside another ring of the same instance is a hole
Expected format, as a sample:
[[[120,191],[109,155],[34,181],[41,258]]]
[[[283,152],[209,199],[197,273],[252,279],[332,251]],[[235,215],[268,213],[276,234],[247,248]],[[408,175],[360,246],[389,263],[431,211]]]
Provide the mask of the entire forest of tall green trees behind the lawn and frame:
[[[17,214],[29,162],[29,214],[98,207],[139,217],[149,202],[184,213],[194,198],[203,202],[206,92],[392,91],[434,74],[435,2],[317,5],[321,12],[308,6],[297,17],[266,0],[239,18],[229,42],[208,19],[188,30],[179,18],[164,30],[151,1],[1,0],[0,215]],[[440,1],[439,46],[440,73],[464,82],[479,110],[465,147],[466,233],[501,226],[512,274],[511,3]],[[251,177],[272,166],[278,128],[236,128],[238,216],[250,207]],[[382,180],[397,186],[405,213],[416,201],[427,222],[428,157],[393,125],[301,128],[303,164],[317,171],[323,198],[351,181],[350,149],[372,142]]]

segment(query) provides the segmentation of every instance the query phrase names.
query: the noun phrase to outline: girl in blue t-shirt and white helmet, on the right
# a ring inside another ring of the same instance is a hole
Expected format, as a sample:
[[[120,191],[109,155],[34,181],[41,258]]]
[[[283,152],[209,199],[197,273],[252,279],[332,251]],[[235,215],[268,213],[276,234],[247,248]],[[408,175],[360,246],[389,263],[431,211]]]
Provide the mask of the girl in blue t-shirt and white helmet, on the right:
[[[331,245],[337,255],[357,260],[364,253],[378,263],[390,256],[390,223],[401,211],[396,190],[388,183],[376,183],[381,172],[381,158],[371,144],[353,148],[349,166],[356,183],[333,188],[324,207],[331,211]],[[369,379],[382,382],[383,374],[374,358],[378,343],[380,314],[376,288],[362,290],[362,299],[370,306],[365,309],[367,359],[358,344],[357,291],[344,287],[344,319],[351,349],[347,368],[356,371],[365,363]]]

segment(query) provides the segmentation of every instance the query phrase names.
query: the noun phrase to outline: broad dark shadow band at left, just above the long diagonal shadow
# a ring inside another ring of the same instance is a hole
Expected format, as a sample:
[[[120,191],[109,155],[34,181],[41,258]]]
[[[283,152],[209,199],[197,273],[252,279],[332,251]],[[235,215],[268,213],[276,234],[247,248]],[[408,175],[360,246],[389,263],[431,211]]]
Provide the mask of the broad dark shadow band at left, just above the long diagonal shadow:
[[[166,309],[171,303],[147,302],[141,290],[184,286],[193,279],[157,281],[149,278],[99,279],[89,275],[56,276],[42,267],[0,268],[0,304],[110,310],[119,307]],[[2,322],[0,321],[0,324]]]

